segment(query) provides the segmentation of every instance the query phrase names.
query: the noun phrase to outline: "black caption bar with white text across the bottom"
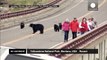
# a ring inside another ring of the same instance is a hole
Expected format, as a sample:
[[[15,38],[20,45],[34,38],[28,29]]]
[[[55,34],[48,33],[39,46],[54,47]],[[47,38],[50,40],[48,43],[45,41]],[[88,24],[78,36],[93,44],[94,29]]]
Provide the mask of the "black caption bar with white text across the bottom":
[[[98,54],[98,49],[9,49],[9,54]]]

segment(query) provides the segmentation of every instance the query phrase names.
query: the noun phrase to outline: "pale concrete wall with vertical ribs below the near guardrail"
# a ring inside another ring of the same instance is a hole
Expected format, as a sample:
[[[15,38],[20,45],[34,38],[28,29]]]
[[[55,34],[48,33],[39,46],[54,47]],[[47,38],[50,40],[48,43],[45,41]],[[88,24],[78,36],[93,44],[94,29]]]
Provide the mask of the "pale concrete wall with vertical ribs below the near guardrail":
[[[107,57],[107,35],[85,46],[84,49],[98,49],[98,54],[78,54],[66,60],[106,60]],[[78,58],[76,58],[78,57]]]

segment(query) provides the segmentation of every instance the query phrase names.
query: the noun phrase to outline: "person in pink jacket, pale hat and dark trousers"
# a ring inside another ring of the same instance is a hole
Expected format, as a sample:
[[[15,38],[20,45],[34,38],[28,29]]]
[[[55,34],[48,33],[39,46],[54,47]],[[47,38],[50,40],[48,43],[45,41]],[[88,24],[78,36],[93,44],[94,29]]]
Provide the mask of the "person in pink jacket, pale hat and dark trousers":
[[[70,30],[69,27],[70,27],[69,19],[66,19],[65,22],[62,24],[62,30],[64,31],[64,42],[68,41]]]

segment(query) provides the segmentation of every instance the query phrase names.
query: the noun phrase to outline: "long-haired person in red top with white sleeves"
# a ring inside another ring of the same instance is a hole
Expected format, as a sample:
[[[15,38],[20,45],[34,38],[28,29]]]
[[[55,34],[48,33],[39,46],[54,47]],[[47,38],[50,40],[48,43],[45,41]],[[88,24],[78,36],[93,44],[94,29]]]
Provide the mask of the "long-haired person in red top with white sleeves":
[[[89,30],[88,24],[87,24],[87,19],[85,17],[82,19],[82,22],[80,22],[79,28],[80,28],[81,34],[84,34],[85,32],[87,32]]]

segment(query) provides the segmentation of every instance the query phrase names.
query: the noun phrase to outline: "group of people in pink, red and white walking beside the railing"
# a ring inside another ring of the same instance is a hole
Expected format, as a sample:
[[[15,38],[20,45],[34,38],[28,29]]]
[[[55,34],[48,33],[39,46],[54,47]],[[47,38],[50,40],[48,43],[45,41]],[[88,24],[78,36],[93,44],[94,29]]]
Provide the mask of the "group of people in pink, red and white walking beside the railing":
[[[64,42],[68,41],[69,31],[72,31],[72,39],[77,37],[78,33],[84,34],[96,27],[96,21],[94,18],[82,18],[82,21],[79,23],[77,18],[74,18],[71,22],[69,19],[66,19],[62,24],[62,30],[64,31]]]

